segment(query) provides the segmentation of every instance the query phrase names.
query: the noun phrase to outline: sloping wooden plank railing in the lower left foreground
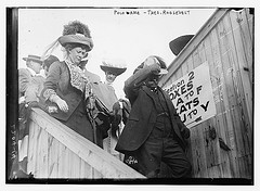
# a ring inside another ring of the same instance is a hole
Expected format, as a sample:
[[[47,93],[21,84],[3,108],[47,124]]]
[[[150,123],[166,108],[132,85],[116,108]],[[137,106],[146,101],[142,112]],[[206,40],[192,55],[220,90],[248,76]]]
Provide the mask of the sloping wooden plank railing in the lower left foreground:
[[[35,178],[145,178],[40,109],[29,122],[27,171]]]

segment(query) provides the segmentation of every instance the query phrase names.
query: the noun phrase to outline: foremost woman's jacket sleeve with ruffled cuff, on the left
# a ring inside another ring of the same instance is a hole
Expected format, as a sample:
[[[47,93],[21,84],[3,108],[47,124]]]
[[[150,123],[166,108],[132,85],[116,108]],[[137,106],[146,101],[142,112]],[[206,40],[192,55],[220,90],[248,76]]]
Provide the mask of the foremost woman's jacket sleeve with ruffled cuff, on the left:
[[[49,75],[41,91],[41,97],[43,100],[48,100],[52,94],[56,94],[56,89],[61,79],[61,73],[62,69],[60,62],[55,62],[50,66]]]

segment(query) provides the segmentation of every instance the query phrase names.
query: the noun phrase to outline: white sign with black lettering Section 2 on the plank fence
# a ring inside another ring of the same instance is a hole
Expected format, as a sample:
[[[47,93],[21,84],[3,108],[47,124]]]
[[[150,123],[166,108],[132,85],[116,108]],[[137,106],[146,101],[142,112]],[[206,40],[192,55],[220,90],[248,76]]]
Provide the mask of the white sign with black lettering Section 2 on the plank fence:
[[[162,89],[169,93],[182,122],[188,128],[216,115],[207,62]]]

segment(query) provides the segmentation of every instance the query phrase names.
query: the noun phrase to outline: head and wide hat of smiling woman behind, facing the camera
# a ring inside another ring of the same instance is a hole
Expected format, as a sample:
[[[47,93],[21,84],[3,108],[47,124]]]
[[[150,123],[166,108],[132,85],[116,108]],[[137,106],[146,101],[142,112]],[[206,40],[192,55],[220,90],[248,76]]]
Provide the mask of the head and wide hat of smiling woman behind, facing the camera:
[[[127,67],[123,61],[120,60],[106,60],[100,66],[105,72],[105,78],[108,84],[113,84],[117,76],[126,72]]]

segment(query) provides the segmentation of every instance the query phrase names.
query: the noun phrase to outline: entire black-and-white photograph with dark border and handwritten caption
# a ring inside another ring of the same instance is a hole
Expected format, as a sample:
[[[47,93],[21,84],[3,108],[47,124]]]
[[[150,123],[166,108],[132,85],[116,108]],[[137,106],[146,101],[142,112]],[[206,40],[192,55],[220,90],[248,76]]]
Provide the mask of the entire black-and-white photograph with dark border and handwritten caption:
[[[255,7],[4,11],[8,187],[255,186]]]

